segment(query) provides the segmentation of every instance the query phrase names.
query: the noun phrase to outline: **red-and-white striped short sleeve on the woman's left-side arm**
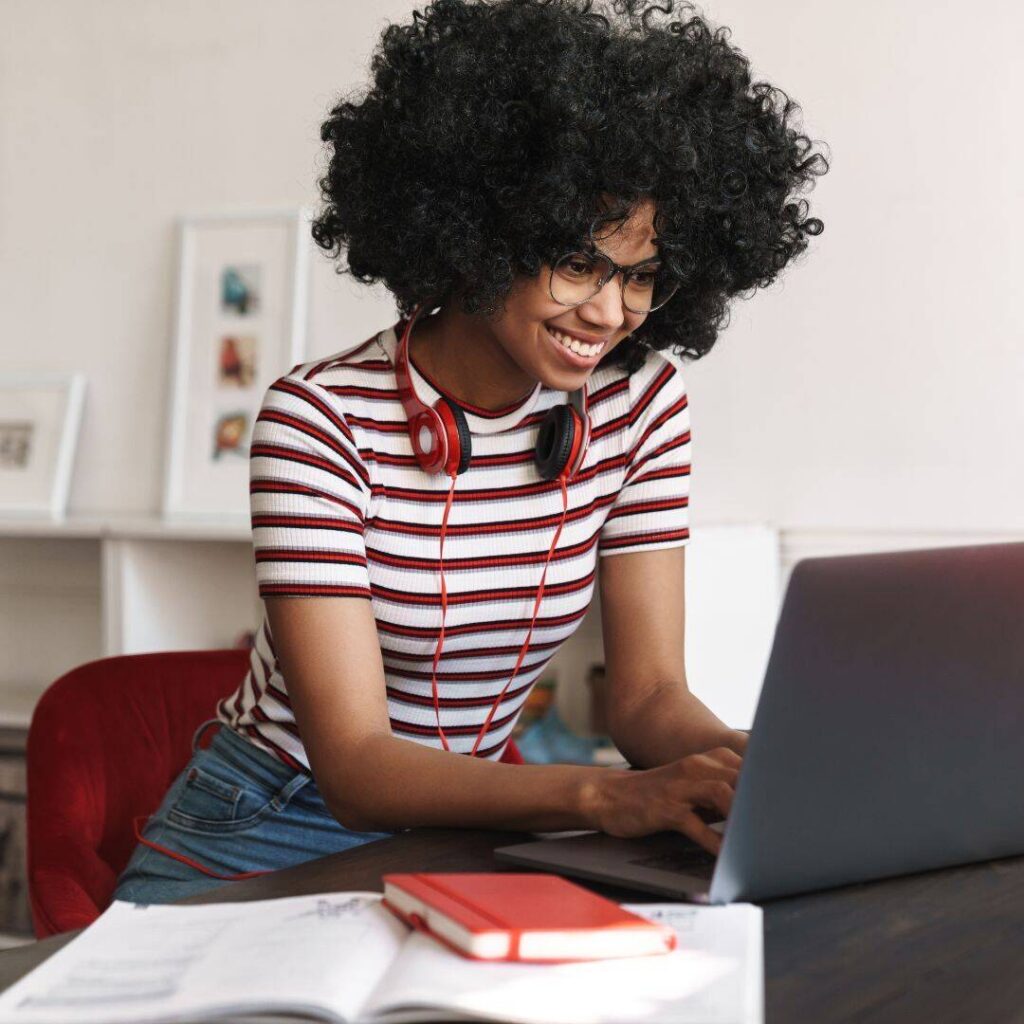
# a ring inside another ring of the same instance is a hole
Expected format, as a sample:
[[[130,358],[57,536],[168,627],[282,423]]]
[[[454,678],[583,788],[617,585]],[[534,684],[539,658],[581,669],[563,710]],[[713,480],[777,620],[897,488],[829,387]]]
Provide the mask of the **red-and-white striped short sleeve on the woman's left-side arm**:
[[[370,597],[370,474],[334,396],[301,377],[263,396],[249,450],[260,597]]]

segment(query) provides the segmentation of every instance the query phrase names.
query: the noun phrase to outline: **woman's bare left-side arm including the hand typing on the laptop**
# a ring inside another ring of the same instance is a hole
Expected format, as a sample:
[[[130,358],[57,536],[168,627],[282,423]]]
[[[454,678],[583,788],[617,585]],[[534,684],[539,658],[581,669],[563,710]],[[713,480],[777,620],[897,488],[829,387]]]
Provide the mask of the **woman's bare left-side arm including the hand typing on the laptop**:
[[[727,814],[734,772],[508,765],[391,734],[384,667],[365,598],[266,598],[274,647],[316,784],[360,831],[435,825],[640,836],[678,829],[718,848],[695,807]]]

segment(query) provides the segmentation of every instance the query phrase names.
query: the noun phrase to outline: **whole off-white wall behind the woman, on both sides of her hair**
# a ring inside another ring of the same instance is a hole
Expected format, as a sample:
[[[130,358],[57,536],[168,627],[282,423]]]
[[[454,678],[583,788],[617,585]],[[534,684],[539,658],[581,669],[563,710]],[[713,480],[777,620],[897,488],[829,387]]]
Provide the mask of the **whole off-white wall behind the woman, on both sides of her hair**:
[[[0,371],[83,370],[72,512],[160,505],[173,223],[315,201],[319,121],[409,0],[0,0]],[[1024,525],[1024,13],[716,0],[833,171],[825,232],[689,368],[693,517]],[[312,351],[393,306],[314,259]]]

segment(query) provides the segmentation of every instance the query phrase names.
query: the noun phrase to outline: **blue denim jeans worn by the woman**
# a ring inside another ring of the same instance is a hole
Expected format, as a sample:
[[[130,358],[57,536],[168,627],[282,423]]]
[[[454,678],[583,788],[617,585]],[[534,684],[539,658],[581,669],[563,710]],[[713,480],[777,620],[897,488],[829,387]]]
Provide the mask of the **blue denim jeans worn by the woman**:
[[[193,737],[191,760],[141,830],[144,839],[218,874],[274,870],[394,835],[352,831],[324,804],[311,775],[294,772],[221,725],[210,745]],[[139,843],[115,899],[169,903],[229,884]]]

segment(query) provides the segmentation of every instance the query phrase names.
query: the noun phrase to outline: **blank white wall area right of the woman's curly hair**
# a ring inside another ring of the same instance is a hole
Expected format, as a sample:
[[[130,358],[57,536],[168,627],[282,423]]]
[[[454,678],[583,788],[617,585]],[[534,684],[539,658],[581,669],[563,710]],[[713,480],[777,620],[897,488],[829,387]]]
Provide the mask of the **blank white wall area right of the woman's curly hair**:
[[[834,160],[804,265],[690,370],[694,517],[1024,532],[1024,12],[706,9]]]

